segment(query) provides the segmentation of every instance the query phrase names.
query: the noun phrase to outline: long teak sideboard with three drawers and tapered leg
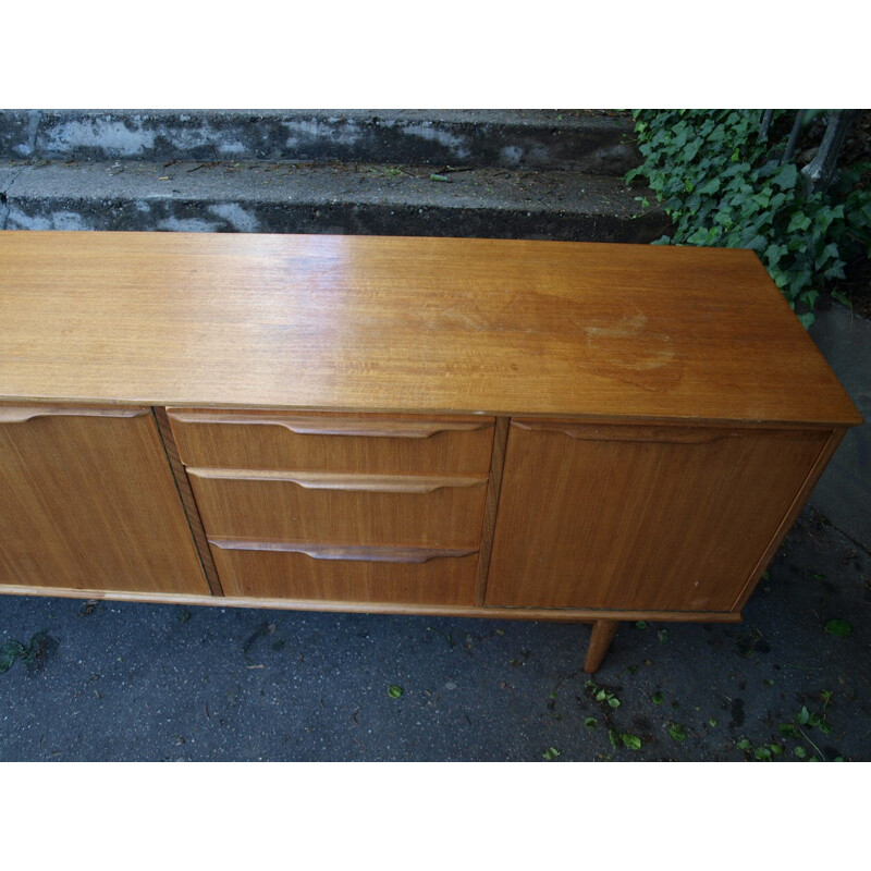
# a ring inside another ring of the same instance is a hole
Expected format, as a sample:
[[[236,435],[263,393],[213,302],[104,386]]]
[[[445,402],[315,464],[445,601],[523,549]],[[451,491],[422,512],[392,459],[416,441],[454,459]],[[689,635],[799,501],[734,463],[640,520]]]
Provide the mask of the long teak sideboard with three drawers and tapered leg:
[[[0,590],[738,621],[861,422],[746,250],[0,233]]]

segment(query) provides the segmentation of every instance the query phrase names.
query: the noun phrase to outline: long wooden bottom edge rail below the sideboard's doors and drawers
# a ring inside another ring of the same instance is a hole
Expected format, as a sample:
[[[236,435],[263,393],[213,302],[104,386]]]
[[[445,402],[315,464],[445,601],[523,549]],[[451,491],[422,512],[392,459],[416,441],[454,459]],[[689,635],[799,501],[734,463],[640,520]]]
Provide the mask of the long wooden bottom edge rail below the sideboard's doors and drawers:
[[[0,585],[9,596],[96,599],[111,602],[143,602],[168,605],[217,605],[218,608],[266,608],[284,611],[338,611],[352,614],[421,614],[491,619],[540,619],[556,623],[594,623],[598,619],[661,623],[740,623],[739,613],[727,611],[591,611],[584,609],[477,608],[475,605],[421,605],[395,602],[335,602],[311,599],[253,599],[238,596],[195,596],[189,593],[126,592],[123,590],[74,590],[66,587],[19,587]]]

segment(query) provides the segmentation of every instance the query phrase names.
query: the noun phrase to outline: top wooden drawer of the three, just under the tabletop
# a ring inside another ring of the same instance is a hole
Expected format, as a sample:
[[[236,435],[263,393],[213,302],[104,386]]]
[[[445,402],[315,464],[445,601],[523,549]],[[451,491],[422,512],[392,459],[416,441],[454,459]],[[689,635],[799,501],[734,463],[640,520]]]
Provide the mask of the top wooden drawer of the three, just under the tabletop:
[[[487,475],[492,417],[171,408],[183,462],[231,469]]]

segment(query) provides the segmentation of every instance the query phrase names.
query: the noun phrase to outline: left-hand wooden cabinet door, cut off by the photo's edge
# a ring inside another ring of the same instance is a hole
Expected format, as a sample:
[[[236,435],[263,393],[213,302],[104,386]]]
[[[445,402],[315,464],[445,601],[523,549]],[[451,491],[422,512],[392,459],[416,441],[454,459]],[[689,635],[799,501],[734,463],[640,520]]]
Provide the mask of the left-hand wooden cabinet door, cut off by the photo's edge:
[[[0,405],[0,585],[208,594],[148,408]]]

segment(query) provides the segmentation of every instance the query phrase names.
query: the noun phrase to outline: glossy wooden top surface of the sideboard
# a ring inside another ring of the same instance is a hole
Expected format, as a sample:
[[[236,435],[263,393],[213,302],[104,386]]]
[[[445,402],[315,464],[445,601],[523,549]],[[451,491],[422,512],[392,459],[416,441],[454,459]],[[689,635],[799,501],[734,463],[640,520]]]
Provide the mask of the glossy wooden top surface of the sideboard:
[[[0,398],[860,421],[746,250],[0,232]]]

